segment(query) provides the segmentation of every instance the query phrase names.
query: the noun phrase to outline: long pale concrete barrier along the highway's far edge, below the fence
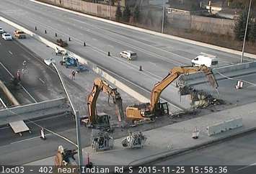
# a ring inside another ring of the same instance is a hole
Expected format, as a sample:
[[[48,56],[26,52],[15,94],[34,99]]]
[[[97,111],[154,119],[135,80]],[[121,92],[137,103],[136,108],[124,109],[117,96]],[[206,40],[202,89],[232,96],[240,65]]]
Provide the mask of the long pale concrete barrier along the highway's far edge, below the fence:
[[[195,41],[195,40],[188,40],[188,39],[185,39],[185,38],[182,38],[182,37],[162,34],[160,32],[154,32],[154,31],[149,30],[149,29],[143,29],[143,28],[140,28],[140,27],[134,27],[134,26],[129,25],[129,24],[123,24],[123,23],[120,23],[120,22],[115,22],[115,21],[111,21],[111,20],[108,20],[108,19],[103,19],[103,18],[100,18],[100,17],[94,17],[94,16],[89,15],[89,14],[84,14],[84,13],[81,13],[81,12],[75,12],[75,11],[70,10],[70,9],[64,9],[64,8],[62,8],[60,6],[54,6],[54,5],[47,4],[47,3],[44,3],[44,2],[41,2],[41,1],[37,1],[37,0],[29,0],[29,1],[35,2],[37,4],[43,4],[44,6],[50,6],[52,8],[59,9],[59,10],[62,10],[64,12],[69,12],[69,13],[72,13],[72,14],[76,14],[76,15],[79,15],[79,16],[82,16],[82,17],[88,17],[90,19],[94,19],[94,20],[97,20],[97,21],[106,22],[106,23],[109,23],[109,24],[114,24],[116,26],[125,27],[125,28],[128,28],[128,29],[134,29],[134,30],[139,31],[139,32],[145,32],[145,33],[148,33],[150,35],[156,35],[156,36],[160,36],[160,37],[165,37],[165,38],[168,38],[168,39],[171,39],[171,40],[178,40],[178,41],[181,41],[181,42],[190,43],[192,45],[208,47],[210,49],[214,49],[214,50],[218,50],[218,51],[223,51],[223,52],[228,52],[228,53],[231,53],[231,54],[234,54],[234,55],[241,55],[242,54],[241,51],[232,50],[232,49],[229,49],[229,48],[226,48],[226,47],[219,47],[219,46],[207,44],[207,43],[204,43],[204,42],[198,42],[198,41]],[[256,59],[256,55],[253,55],[253,54],[250,54],[250,53],[247,53],[247,52],[244,52],[244,56],[248,57],[248,58]]]

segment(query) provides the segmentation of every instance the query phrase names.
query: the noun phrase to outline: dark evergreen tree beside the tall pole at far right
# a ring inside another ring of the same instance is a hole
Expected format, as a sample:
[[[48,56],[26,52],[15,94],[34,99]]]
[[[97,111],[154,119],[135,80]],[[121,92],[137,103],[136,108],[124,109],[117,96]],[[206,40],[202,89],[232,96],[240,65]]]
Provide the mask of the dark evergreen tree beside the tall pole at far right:
[[[236,35],[237,40],[244,40],[246,22],[247,22],[247,11],[244,10],[242,14],[240,14],[239,19],[237,20],[237,23],[235,24],[235,27],[234,27],[234,33]],[[247,29],[247,36],[246,36],[247,39],[248,39],[249,33],[250,33],[250,22],[248,24],[248,29]]]

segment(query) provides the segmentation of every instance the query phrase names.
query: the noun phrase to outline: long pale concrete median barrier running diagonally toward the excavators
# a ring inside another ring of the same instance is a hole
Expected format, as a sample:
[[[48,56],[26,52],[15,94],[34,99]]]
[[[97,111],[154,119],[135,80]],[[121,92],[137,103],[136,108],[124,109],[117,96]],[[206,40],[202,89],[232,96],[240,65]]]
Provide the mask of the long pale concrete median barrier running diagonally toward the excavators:
[[[65,50],[66,52],[69,52],[69,55],[73,56],[74,58],[77,58],[79,60],[79,63],[86,64],[95,73],[100,75],[102,78],[105,78],[107,81],[110,81],[110,83],[113,83],[115,86],[117,86],[121,90],[125,91],[130,96],[133,96],[133,98],[137,99],[138,101],[140,101],[142,103],[149,102],[148,98],[146,98],[145,96],[141,95],[140,93],[134,91],[132,88],[126,86],[124,83],[118,81],[118,79],[114,78],[112,75],[110,75],[110,73],[107,73],[106,70],[103,70],[103,68],[100,68],[99,65],[96,65],[96,64],[90,62],[89,60],[86,60],[85,58],[81,58],[81,56],[76,55],[74,52],[66,50],[63,47],[60,47],[60,46],[56,45],[55,43],[50,42],[49,40],[46,40],[44,37],[41,37],[40,35],[37,35],[34,32],[31,32],[29,29],[26,29],[25,27],[22,27],[21,25],[10,21],[9,19],[6,19],[6,18],[0,16],[0,20],[3,22],[6,22],[7,24],[12,25],[12,27],[21,29],[22,31],[27,33],[27,35],[34,37],[36,40],[39,40],[40,42],[43,42],[48,47],[51,47],[53,49],[56,49],[56,47],[58,47],[59,50]]]

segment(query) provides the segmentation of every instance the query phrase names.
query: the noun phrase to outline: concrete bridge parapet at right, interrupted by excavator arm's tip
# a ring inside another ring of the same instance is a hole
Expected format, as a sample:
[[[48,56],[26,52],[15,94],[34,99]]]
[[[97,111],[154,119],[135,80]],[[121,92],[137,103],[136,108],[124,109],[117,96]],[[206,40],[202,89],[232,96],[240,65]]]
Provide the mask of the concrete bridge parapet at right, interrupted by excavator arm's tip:
[[[234,65],[226,65],[218,68],[213,68],[213,74],[215,75],[216,80],[221,80],[224,77],[225,73],[231,73],[228,75],[229,78],[236,77],[237,75],[246,75],[248,73],[255,73],[256,72],[256,61],[249,62],[249,63],[238,63]],[[193,73],[189,75],[180,75],[182,81],[185,81],[185,85],[195,85],[199,83],[206,82],[206,75],[202,72],[200,73]]]

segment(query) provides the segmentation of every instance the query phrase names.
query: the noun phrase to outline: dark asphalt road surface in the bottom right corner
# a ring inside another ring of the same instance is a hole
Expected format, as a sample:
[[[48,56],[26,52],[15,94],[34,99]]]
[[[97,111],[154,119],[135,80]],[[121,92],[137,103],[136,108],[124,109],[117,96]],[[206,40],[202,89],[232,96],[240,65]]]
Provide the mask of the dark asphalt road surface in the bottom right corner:
[[[228,165],[237,174],[255,173],[255,145],[256,132],[251,132],[193,152],[153,162],[152,165]]]

